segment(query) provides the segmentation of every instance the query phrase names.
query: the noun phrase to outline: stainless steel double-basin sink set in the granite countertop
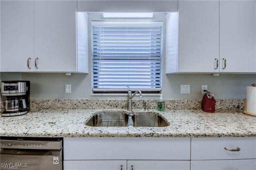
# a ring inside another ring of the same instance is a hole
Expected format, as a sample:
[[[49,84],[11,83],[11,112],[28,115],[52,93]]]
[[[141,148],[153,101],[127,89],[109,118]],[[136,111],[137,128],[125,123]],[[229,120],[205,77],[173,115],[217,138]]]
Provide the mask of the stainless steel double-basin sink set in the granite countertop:
[[[126,127],[129,119],[128,114],[125,112],[100,112],[91,117],[86,125],[90,127]],[[130,118],[134,127],[169,126],[169,123],[155,112],[134,113]]]

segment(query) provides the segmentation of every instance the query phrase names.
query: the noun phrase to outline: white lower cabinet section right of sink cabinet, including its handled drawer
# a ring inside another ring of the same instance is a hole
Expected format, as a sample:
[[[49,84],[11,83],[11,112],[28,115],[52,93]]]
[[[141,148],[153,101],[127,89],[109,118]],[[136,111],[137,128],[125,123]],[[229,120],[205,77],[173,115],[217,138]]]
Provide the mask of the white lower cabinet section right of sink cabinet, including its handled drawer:
[[[191,138],[191,170],[256,170],[256,137]]]

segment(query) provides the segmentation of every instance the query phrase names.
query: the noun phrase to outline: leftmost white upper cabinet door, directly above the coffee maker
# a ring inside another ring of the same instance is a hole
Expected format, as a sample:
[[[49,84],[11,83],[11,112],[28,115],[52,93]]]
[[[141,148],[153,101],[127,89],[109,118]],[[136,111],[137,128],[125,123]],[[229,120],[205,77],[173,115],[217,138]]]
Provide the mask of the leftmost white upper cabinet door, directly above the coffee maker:
[[[0,71],[34,71],[34,1],[1,0],[0,3]]]

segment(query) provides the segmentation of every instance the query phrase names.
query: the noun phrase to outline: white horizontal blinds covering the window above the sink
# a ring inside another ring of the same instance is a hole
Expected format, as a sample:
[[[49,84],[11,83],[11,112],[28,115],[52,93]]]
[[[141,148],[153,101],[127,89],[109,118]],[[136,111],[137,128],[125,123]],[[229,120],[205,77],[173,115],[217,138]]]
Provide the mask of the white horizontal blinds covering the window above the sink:
[[[160,91],[162,25],[92,22],[93,91]]]

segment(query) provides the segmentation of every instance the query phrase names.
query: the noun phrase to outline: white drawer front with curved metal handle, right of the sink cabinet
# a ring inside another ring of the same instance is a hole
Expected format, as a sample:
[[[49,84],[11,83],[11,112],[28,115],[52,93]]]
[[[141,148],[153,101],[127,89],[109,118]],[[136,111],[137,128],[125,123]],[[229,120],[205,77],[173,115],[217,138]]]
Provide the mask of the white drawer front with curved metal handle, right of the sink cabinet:
[[[237,151],[237,148],[240,148],[240,151]],[[256,137],[191,138],[191,160],[255,158]]]

